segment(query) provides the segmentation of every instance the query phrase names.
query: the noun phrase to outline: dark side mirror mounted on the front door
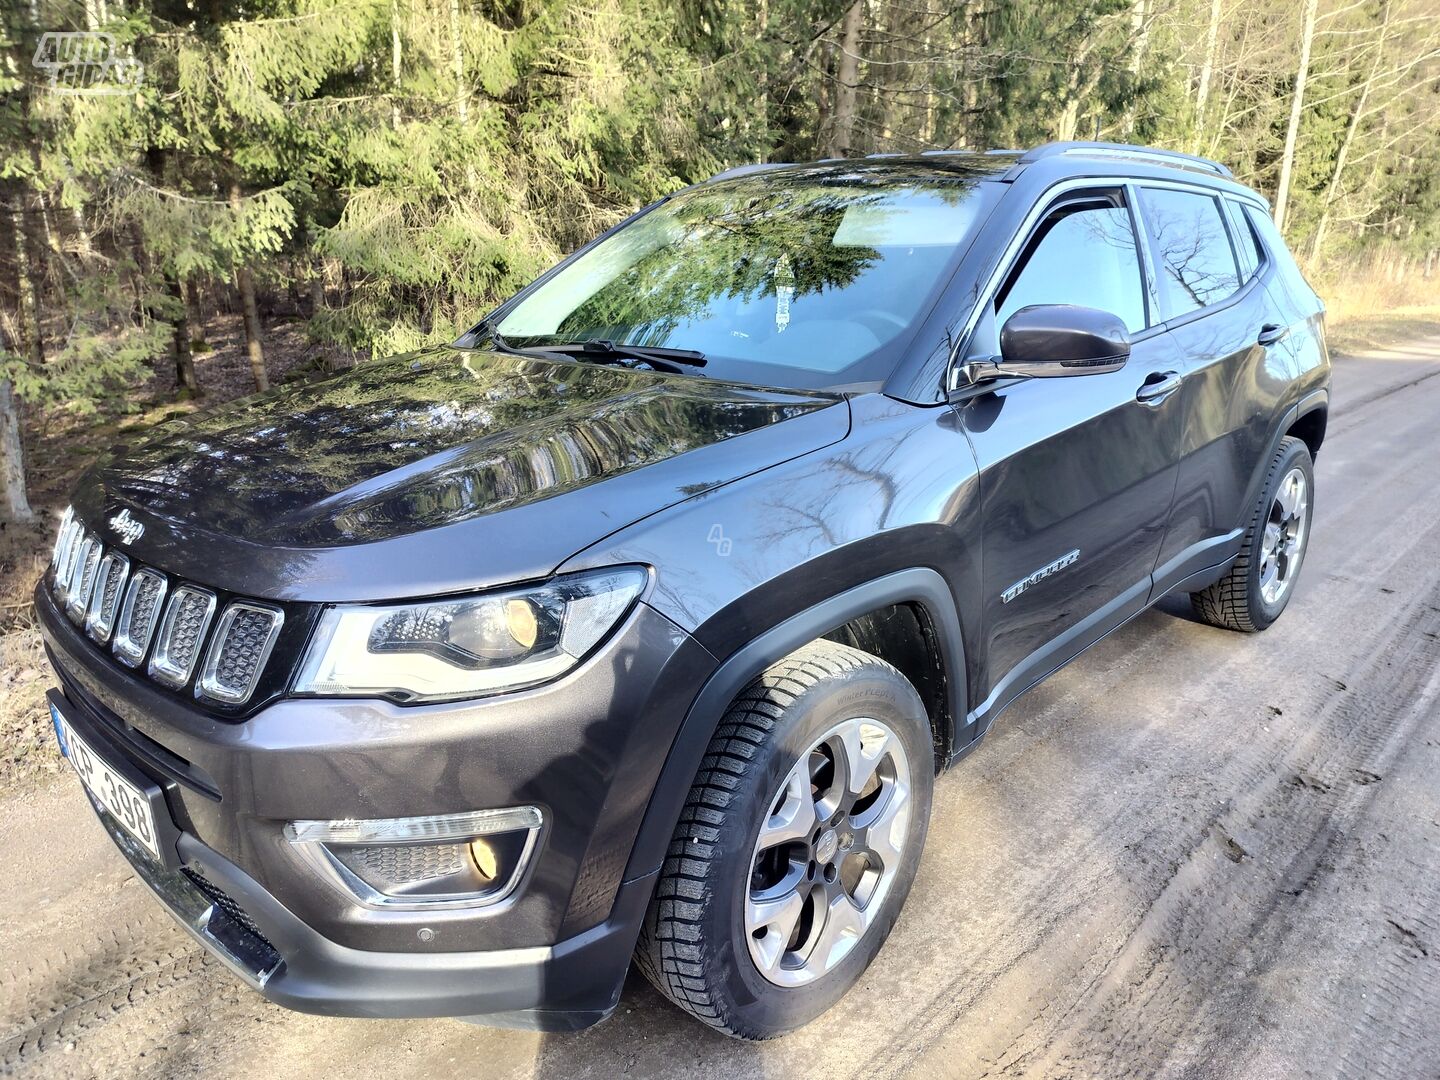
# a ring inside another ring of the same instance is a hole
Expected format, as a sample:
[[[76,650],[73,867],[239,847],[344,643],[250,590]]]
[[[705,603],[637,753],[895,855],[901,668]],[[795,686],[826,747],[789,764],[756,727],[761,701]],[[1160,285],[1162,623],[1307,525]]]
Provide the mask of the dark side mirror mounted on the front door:
[[[1073,304],[1032,304],[999,331],[999,360],[979,374],[1054,377],[1104,374],[1125,367],[1130,333],[1119,315]]]

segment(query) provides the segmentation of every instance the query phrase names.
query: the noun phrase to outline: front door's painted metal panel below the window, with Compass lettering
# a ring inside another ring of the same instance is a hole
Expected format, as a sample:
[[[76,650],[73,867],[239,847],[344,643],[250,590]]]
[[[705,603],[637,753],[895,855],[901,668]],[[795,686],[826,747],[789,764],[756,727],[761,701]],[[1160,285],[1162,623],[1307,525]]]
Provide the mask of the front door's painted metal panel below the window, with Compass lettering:
[[[1184,413],[1179,393],[1135,395],[1176,364],[1168,337],[1151,334],[1119,372],[1009,383],[960,406],[985,517],[978,711],[1002,708],[1145,605]]]

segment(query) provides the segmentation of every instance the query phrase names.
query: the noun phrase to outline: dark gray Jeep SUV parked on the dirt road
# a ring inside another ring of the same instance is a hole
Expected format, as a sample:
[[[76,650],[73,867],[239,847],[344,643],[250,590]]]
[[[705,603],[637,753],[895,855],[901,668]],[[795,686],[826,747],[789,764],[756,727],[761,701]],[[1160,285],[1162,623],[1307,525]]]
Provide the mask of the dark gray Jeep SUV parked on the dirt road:
[[[634,956],[776,1035],[1005,706],[1169,593],[1279,616],[1322,314],[1201,158],[733,170],[452,346],[111,449],[35,596],[56,733],[282,1005],[569,1030]]]

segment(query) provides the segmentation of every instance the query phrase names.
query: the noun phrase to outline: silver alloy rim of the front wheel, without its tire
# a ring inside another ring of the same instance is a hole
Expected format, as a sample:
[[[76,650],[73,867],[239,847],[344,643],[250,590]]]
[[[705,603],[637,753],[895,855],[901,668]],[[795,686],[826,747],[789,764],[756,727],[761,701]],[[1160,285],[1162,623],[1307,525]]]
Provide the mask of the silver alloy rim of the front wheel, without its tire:
[[[832,971],[900,873],[910,763],[880,720],[845,720],[801,755],[760,822],[744,933],[760,975],[801,986]]]

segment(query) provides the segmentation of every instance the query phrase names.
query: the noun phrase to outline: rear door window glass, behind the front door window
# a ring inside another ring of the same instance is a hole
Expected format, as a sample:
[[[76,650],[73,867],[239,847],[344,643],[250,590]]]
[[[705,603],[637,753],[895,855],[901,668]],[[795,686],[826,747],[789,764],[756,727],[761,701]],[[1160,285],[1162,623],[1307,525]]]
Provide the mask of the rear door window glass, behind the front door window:
[[[1218,304],[1240,288],[1236,253],[1214,197],[1143,187],[1140,203],[1155,238],[1165,318]]]

